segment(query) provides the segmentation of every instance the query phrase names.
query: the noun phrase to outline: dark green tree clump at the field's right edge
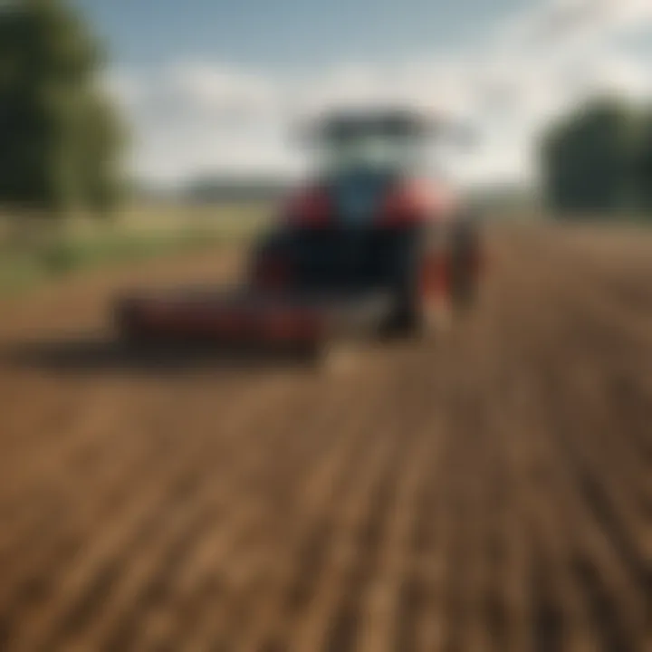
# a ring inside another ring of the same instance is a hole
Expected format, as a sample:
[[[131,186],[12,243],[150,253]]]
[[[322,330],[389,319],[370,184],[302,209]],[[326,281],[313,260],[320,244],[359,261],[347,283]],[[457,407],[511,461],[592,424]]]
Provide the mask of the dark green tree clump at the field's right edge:
[[[652,110],[615,98],[590,101],[542,141],[544,197],[567,216],[652,212]]]

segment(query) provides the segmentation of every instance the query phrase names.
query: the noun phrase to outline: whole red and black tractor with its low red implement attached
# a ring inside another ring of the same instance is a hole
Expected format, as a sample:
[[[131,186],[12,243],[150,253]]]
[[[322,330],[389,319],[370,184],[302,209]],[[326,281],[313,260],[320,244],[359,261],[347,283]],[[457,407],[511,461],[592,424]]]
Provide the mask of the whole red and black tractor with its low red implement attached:
[[[433,331],[475,301],[478,226],[424,175],[438,126],[410,110],[340,112],[312,131],[320,166],[254,245],[235,289],[120,298],[129,340],[321,350],[340,338]]]

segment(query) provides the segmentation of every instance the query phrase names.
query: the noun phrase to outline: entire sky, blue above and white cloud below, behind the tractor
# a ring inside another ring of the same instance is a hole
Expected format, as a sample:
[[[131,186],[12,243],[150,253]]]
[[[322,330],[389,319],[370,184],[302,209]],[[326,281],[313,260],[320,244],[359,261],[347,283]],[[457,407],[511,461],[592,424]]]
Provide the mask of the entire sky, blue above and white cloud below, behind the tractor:
[[[154,183],[301,167],[292,125],[403,103],[468,123],[466,184],[530,182],[550,120],[596,93],[652,100],[652,0],[74,0]]]

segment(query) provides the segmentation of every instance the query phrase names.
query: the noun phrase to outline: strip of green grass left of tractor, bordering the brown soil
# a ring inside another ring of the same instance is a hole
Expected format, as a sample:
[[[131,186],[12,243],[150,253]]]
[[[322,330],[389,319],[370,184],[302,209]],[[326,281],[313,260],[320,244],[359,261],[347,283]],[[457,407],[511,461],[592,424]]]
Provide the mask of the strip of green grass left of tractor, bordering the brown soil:
[[[0,295],[89,269],[245,242],[267,214],[264,206],[150,206],[110,224],[77,219],[53,229],[34,222],[15,242],[0,238]]]

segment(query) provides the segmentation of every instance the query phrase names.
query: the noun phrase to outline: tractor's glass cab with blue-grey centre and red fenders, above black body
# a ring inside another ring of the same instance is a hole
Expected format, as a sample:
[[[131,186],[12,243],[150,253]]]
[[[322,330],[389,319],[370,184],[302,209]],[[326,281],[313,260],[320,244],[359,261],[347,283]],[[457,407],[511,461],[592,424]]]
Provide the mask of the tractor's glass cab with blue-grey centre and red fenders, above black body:
[[[294,225],[408,225],[436,217],[433,120],[408,110],[340,112],[312,130],[316,173],[286,206]],[[440,195],[443,193],[440,192]],[[440,203],[443,203],[440,201]]]

